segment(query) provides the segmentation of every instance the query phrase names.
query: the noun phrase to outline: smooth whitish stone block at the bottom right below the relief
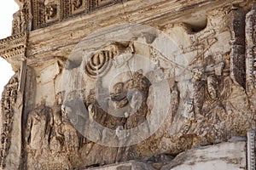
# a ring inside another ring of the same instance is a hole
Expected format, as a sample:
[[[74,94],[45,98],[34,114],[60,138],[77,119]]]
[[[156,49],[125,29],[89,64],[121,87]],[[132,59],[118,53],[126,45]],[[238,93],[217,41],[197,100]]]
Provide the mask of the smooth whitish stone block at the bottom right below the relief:
[[[187,150],[161,170],[247,169],[246,142],[223,143]]]

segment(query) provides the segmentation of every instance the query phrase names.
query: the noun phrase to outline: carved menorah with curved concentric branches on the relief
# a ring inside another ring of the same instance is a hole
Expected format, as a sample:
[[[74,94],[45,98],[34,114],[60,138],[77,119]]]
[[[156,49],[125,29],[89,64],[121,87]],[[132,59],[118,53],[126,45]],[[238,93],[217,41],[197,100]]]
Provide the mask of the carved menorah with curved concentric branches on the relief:
[[[102,50],[90,57],[85,65],[85,72],[89,77],[102,77],[112,66],[113,53]]]

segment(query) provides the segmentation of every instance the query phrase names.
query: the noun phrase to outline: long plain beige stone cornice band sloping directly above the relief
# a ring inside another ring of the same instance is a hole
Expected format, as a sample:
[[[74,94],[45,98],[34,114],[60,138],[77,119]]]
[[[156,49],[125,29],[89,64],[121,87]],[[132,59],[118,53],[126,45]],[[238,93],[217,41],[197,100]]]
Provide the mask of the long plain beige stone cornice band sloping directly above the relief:
[[[149,26],[163,26],[168,23],[181,22],[190,17],[192,7],[211,10],[230,3],[234,0],[222,2],[197,0],[187,1],[150,1],[141,2],[131,0],[126,3],[117,3],[108,8],[101,8],[88,14],[73,17],[72,20],[62,20],[52,26],[30,32],[27,58],[28,63],[35,63],[45,57],[68,56],[74,46],[84,37],[104,27],[127,23],[139,23]],[[184,3],[181,8],[181,3]],[[61,40],[61,41],[60,41]],[[38,59],[36,59],[38,58]],[[32,59],[35,59],[32,61]]]

